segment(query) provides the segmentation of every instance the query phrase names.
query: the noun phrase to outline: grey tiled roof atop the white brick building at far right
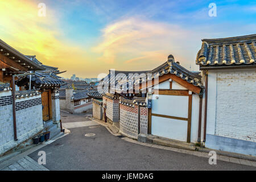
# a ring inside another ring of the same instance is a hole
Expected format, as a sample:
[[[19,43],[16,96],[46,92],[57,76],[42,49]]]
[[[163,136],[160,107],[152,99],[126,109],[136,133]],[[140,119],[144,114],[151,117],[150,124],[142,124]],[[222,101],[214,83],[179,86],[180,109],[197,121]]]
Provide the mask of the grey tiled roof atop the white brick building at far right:
[[[196,57],[200,67],[255,65],[256,34],[222,39],[203,39]]]

